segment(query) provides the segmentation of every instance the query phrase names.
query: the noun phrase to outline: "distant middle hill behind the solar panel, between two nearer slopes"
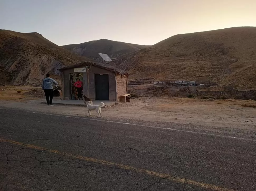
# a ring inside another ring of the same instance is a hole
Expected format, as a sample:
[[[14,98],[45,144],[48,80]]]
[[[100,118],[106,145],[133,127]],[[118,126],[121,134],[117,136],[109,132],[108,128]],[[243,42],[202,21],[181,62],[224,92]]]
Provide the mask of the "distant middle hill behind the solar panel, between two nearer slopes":
[[[149,46],[101,39],[81,44],[69,44],[61,47],[70,50],[78,55],[98,60],[98,53],[105,53],[110,58],[118,58],[119,56],[122,56],[124,54],[131,53]]]

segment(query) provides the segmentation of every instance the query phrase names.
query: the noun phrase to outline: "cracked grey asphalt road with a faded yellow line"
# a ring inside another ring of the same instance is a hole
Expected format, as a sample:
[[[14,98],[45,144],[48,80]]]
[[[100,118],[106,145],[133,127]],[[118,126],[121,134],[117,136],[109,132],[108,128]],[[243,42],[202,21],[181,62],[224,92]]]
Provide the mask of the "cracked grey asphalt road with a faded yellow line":
[[[254,191],[256,141],[0,108],[0,190]]]

